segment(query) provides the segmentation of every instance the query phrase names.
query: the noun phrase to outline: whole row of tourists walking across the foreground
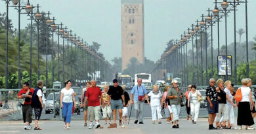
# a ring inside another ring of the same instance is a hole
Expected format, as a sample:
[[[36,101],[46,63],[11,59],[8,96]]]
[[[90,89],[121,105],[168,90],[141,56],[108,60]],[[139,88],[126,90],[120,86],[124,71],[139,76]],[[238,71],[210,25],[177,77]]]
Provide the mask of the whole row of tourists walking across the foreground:
[[[161,124],[161,109],[165,110],[167,124],[172,124],[172,127],[179,128],[179,114],[181,107],[186,106],[186,120],[192,120],[192,124],[197,124],[198,115],[200,112],[200,101],[202,94],[197,90],[196,85],[188,85],[188,90],[183,93],[179,89],[177,80],[171,81],[171,86],[166,85],[164,92],[158,89],[157,85],[153,86],[153,90],[147,93],[146,87],[142,85],[142,79],[137,80],[138,84],[131,90],[131,98],[129,93],[125,91],[125,86],[118,85],[117,79],[113,80],[113,86],[104,86],[104,90],[100,90],[96,86],[96,81],[86,82],[86,88],[81,91],[81,106],[84,109],[84,119],[87,126],[87,114],[89,114],[89,125],[91,129],[100,127],[100,109],[104,118],[104,124],[111,125],[111,116],[113,116],[113,124],[116,124],[117,112],[119,114],[119,126],[127,123],[128,107],[131,104],[135,111],[135,124],[144,124],[143,122],[143,105],[144,101],[150,105],[152,112],[152,124]],[[206,88],[207,110],[209,113],[209,129],[254,129],[251,127],[254,122],[253,118],[256,115],[255,111],[255,94],[249,87],[251,79],[243,78],[242,87],[238,90],[242,93],[242,99],[235,101],[234,84],[230,80],[224,82],[221,78],[217,80],[209,80],[209,86]],[[35,112],[35,130],[41,130],[38,126],[43,109],[42,87],[43,82],[39,80],[35,90],[30,88],[28,82],[24,82],[24,88],[18,93],[18,99],[24,99],[22,103],[22,114],[24,119],[24,129],[32,129],[32,109]],[[65,88],[60,91],[60,106],[62,108],[62,117],[64,120],[64,129],[70,129],[70,121],[72,117],[72,109],[75,108],[76,93],[71,88],[70,80],[64,82]],[[186,102],[183,102],[185,97]],[[149,99],[150,98],[150,99]],[[237,125],[235,127],[234,109],[238,107]],[[191,114],[191,117],[190,117]],[[95,124],[93,121],[95,120]],[[216,127],[213,126],[215,122]]]

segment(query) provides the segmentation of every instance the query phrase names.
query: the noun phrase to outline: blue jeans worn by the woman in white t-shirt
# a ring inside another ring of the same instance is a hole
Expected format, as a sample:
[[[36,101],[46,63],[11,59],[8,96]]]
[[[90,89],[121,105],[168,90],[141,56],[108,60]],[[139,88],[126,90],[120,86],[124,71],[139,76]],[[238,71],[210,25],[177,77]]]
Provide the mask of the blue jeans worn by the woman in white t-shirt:
[[[62,103],[62,104],[63,104],[63,108],[62,108],[63,122],[70,123],[73,103]]]

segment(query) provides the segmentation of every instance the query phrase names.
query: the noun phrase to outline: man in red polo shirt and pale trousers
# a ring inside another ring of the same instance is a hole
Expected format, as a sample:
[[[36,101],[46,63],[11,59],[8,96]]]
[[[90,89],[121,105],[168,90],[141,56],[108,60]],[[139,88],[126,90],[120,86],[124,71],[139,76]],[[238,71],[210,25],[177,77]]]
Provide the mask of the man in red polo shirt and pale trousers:
[[[100,99],[98,99],[100,97]],[[100,127],[100,101],[102,102],[102,108],[104,108],[104,101],[102,97],[102,92],[100,88],[96,86],[96,81],[91,80],[91,87],[87,88],[87,92],[85,93],[85,102],[83,103],[83,107],[88,101],[88,112],[89,112],[89,129],[93,128],[93,120],[95,118],[96,124],[95,128]]]

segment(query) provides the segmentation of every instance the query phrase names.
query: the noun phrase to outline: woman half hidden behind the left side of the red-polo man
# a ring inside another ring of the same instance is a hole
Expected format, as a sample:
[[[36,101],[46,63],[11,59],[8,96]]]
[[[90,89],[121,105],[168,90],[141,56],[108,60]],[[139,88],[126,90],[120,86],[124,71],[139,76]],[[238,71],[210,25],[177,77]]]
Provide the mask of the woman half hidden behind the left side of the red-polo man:
[[[87,89],[91,87],[91,82],[86,82],[86,88],[83,88],[82,93],[81,93],[81,107],[83,107],[83,103],[85,102],[85,93],[87,92]],[[83,118],[85,119],[85,124],[83,126],[87,126],[87,109],[88,109],[88,101],[85,104],[85,107],[83,108],[84,114]]]

